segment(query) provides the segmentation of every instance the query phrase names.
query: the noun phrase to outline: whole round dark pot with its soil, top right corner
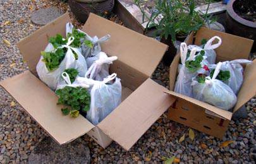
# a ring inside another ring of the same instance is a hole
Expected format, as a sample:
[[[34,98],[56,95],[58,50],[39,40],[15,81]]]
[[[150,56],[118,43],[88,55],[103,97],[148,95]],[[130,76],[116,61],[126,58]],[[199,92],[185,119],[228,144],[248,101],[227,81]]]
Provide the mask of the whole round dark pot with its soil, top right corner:
[[[226,28],[233,35],[256,40],[256,1],[230,0],[227,6]],[[252,52],[256,51],[256,42]]]

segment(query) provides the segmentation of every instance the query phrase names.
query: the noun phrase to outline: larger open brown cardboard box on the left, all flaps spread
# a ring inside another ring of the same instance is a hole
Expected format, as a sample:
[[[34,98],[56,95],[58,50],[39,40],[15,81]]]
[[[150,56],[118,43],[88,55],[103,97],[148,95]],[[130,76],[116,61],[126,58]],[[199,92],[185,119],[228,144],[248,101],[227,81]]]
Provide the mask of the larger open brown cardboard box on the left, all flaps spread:
[[[150,79],[167,46],[152,38],[140,35],[112,21],[90,14],[83,31],[91,36],[111,35],[102,44],[102,51],[118,56],[111,65],[123,86],[123,102],[107,118],[94,126],[83,116],[63,116],[58,97],[37,77],[35,67],[50,36],[65,35],[65,25],[70,22],[68,14],[35,31],[18,43],[29,70],[3,80],[1,86],[52,136],[64,144],[87,133],[102,147],[112,139],[125,150],[142,136],[147,129],[174,102],[164,92],[168,90]]]

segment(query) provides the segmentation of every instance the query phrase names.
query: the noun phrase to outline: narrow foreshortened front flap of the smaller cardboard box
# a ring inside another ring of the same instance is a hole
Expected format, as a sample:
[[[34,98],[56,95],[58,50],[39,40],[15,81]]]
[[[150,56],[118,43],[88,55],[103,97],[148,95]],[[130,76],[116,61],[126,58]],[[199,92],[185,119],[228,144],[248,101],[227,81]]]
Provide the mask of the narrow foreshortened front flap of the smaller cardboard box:
[[[166,93],[170,94],[171,96],[179,97],[180,99],[191,102],[191,103],[193,103],[197,106],[204,107],[205,109],[207,109],[211,112],[214,112],[215,114],[221,116],[222,118],[225,118],[225,119],[228,119],[228,120],[231,120],[231,118],[232,118],[232,112],[224,111],[222,109],[219,109],[218,107],[212,106],[212,105],[207,104],[207,103],[202,102],[202,101],[198,101],[197,99],[193,99],[192,97],[188,97],[188,96],[185,96],[183,94],[178,94],[178,93],[173,92],[171,90],[168,90]]]

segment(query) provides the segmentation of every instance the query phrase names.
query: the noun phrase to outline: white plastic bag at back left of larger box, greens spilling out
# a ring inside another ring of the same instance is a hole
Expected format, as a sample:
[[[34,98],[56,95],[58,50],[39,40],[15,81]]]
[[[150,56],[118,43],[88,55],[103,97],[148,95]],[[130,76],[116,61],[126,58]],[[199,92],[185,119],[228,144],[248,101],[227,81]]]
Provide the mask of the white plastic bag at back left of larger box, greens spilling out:
[[[85,58],[81,54],[81,50],[79,48],[73,48],[70,46],[73,37],[68,38],[68,43],[66,45],[61,45],[59,48],[67,48],[68,51],[63,59],[63,61],[59,64],[59,67],[55,70],[49,71],[46,67],[46,64],[42,61],[43,57],[40,57],[39,62],[37,63],[37,74],[39,75],[40,80],[48,85],[52,90],[55,90],[59,81],[61,80],[61,74],[64,72],[66,68],[76,68],[79,72],[80,76],[85,76],[87,72],[87,64],[85,62]],[[49,43],[45,49],[45,52],[54,51],[53,46]],[[78,56],[77,60],[73,52],[75,52]]]

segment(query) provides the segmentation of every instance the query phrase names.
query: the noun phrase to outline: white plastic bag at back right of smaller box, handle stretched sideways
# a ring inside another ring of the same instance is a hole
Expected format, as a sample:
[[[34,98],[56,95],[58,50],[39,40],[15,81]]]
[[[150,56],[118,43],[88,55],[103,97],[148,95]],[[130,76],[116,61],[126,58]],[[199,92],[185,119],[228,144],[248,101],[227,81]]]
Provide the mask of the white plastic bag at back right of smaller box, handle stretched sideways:
[[[241,64],[250,64],[252,61],[246,59],[237,59],[222,62],[221,70],[229,71],[230,78],[224,82],[227,84],[235,94],[238,94],[241,85],[243,84],[243,67]],[[216,65],[210,65],[210,68],[215,68]]]

